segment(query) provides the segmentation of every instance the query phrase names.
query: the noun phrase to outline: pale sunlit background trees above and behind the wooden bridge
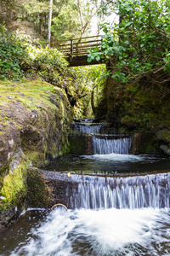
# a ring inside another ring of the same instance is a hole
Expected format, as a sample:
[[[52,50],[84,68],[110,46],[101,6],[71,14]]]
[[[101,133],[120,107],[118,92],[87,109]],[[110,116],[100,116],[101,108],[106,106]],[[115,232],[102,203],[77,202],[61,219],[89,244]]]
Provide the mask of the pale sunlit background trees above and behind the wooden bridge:
[[[100,20],[101,0],[53,0],[51,41],[82,38],[93,26],[93,17]],[[35,38],[48,38],[49,0],[1,0],[0,24],[15,31],[27,27]]]

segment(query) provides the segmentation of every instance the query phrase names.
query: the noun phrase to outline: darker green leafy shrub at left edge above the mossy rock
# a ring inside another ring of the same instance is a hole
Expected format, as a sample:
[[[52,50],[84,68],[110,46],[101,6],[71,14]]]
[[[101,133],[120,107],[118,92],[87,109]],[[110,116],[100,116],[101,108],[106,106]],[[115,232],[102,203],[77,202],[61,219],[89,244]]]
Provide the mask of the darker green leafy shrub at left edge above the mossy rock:
[[[23,43],[23,40],[0,26],[0,77],[3,79],[18,79],[22,76],[20,67],[26,58],[29,59]]]

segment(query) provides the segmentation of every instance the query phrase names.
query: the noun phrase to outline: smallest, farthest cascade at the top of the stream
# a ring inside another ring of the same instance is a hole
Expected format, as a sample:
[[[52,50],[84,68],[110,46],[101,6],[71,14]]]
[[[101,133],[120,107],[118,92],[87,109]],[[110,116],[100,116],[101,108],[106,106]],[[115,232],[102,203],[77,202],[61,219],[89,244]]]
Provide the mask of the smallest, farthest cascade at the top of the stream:
[[[101,125],[95,123],[74,123],[74,131],[99,133]]]

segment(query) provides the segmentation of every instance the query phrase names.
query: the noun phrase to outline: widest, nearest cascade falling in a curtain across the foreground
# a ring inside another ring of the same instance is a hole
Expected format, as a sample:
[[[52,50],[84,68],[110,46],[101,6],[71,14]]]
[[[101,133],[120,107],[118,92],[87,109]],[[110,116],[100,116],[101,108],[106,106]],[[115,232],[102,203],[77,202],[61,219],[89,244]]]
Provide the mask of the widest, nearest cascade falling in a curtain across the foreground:
[[[67,190],[71,209],[169,207],[170,173],[138,177],[90,177]]]

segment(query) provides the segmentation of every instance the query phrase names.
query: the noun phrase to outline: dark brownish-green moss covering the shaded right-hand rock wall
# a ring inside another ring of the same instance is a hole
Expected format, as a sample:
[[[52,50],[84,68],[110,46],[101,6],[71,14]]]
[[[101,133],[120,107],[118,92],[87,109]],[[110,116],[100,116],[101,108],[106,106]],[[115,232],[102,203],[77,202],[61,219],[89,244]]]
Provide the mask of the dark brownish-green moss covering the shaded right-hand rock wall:
[[[169,97],[161,99],[160,88],[147,84],[116,84],[109,78],[105,85],[106,120],[127,125],[130,130],[170,129]],[[101,108],[101,106],[100,106]]]

